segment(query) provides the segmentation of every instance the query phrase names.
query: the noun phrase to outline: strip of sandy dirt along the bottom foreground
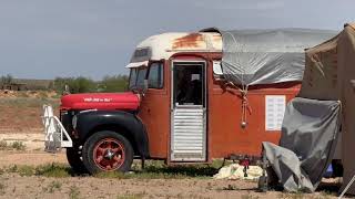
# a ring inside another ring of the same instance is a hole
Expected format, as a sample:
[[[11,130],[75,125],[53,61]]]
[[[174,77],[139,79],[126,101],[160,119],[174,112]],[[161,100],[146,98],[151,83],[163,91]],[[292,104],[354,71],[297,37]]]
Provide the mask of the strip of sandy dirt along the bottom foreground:
[[[97,179],[1,176],[3,198],[329,198],[255,192],[253,182],[213,179]],[[60,186],[58,186],[60,185]],[[235,185],[240,190],[223,190]]]

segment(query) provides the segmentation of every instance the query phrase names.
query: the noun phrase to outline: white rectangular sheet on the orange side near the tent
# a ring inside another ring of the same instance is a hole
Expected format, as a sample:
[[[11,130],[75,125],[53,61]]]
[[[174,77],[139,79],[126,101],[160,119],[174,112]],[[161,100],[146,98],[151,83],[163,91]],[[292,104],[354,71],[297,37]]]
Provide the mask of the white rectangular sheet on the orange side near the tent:
[[[285,95],[265,96],[265,129],[281,130],[286,107]]]

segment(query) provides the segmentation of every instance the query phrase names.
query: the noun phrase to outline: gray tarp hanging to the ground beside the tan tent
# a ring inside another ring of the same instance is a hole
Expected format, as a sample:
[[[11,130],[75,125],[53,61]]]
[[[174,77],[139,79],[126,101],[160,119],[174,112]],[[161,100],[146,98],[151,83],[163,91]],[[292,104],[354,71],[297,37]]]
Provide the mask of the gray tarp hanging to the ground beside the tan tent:
[[[263,143],[285,190],[316,189],[336,147],[339,114],[338,101],[296,97],[287,104],[280,146]]]

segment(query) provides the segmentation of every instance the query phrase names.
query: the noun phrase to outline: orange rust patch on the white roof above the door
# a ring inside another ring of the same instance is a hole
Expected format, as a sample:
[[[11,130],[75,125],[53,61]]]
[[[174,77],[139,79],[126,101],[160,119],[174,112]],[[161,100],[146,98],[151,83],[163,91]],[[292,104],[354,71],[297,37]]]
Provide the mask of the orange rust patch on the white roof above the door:
[[[204,42],[202,34],[191,33],[182,38],[178,38],[173,41],[172,49],[191,49],[199,48]]]

